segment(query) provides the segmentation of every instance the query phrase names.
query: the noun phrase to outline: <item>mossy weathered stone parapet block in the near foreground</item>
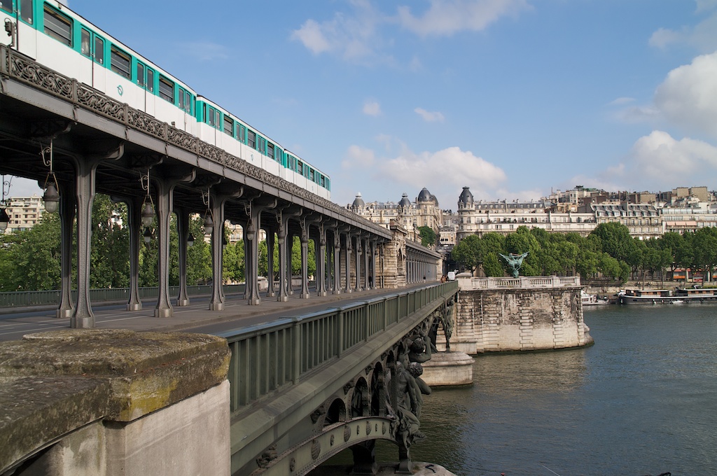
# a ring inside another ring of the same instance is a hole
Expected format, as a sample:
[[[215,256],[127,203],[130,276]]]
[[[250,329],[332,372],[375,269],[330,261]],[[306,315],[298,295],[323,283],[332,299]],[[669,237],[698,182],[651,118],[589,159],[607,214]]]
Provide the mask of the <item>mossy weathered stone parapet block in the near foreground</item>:
[[[228,368],[212,335],[63,330],[0,343],[0,473],[189,475],[201,454],[228,474]]]

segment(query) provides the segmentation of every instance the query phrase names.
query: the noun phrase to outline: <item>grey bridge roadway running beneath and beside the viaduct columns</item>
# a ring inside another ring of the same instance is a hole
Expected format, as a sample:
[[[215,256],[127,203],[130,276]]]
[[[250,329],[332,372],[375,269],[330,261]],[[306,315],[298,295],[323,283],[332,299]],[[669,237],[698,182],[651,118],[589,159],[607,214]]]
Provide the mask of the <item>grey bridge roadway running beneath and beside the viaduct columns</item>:
[[[98,329],[130,329],[172,332],[182,330],[206,334],[222,334],[250,325],[270,323],[280,318],[293,318],[318,310],[350,305],[369,298],[381,298],[406,290],[417,290],[435,283],[410,285],[401,290],[374,289],[339,295],[300,298],[298,292],[285,302],[265,300],[261,306],[248,305],[244,293],[228,294],[224,310],[208,310],[210,295],[191,298],[189,305],[176,308],[171,318],[154,317],[156,298],[143,300],[143,310],[125,310],[126,303],[93,305]],[[13,341],[28,333],[70,328],[69,318],[56,318],[57,306],[0,310],[0,341]]]

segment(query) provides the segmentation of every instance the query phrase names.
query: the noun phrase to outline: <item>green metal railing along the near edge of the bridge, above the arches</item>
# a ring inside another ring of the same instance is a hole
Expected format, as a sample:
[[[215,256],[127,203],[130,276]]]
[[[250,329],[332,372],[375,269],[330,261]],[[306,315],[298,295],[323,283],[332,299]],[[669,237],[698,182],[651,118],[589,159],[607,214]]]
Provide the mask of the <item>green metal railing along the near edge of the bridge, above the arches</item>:
[[[458,290],[455,281],[220,334],[229,343],[231,409],[236,414],[338,358],[425,305]]]

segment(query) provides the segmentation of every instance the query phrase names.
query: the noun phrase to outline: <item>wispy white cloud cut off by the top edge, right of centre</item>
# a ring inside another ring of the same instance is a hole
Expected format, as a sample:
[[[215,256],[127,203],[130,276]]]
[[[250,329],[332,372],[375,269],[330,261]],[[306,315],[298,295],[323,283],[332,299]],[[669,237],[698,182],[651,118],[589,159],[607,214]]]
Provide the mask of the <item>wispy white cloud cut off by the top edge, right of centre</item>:
[[[399,24],[419,36],[450,36],[469,30],[480,32],[502,16],[532,9],[526,0],[431,0],[423,16],[408,6],[398,9]]]

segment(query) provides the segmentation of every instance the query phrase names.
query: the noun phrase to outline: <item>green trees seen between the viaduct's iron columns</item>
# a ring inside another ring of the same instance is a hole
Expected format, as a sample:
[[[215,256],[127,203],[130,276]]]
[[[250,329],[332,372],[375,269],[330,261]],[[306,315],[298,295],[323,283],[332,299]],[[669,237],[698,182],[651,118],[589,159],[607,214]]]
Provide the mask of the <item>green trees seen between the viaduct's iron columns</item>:
[[[110,219],[115,216],[118,219]],[[92,204],[92,247],[90,251],[90,287],[128,287],[130,285],[130,230],[127,206],[115,203],[110,197],[98,194]],[[204,219],[194,216],[189,222],[189,232],[195,237],[187,249],[187,284],[205,284],[212,279],[212,250],[204,241]],[[153,224],[151,229],[155,229]],[[169,234],[169,285],[179,285],[179,234],[176,217],[172,215]],[[224,229],[225,238],[228,230]],[[73,227],[72,241],[76,242],[77,229]],[[292,247],[292,273],[301,270],[301,252],[298,237]],[[34,227],[0,234],[0,292],[55,290],[60,288],[60,218],[45,213]],[[158,243],[140,240],[139,272],[140,287],[158,285]],[[77,248],[72,247],[72,269],[77,269]],[[259,269],[267,270],[268,255],[265,241],[259,244]],[[309,242],[308,269],[315,270],[315,250]],[[274,270],[279,270],[278,245],[274,247]],[[261,272],[261,271],[260,271]],[[222,277],[224,282],[244,280],[244,242],[229,242],[222,253]],[[73,287],[77,273],[72,273]]]

